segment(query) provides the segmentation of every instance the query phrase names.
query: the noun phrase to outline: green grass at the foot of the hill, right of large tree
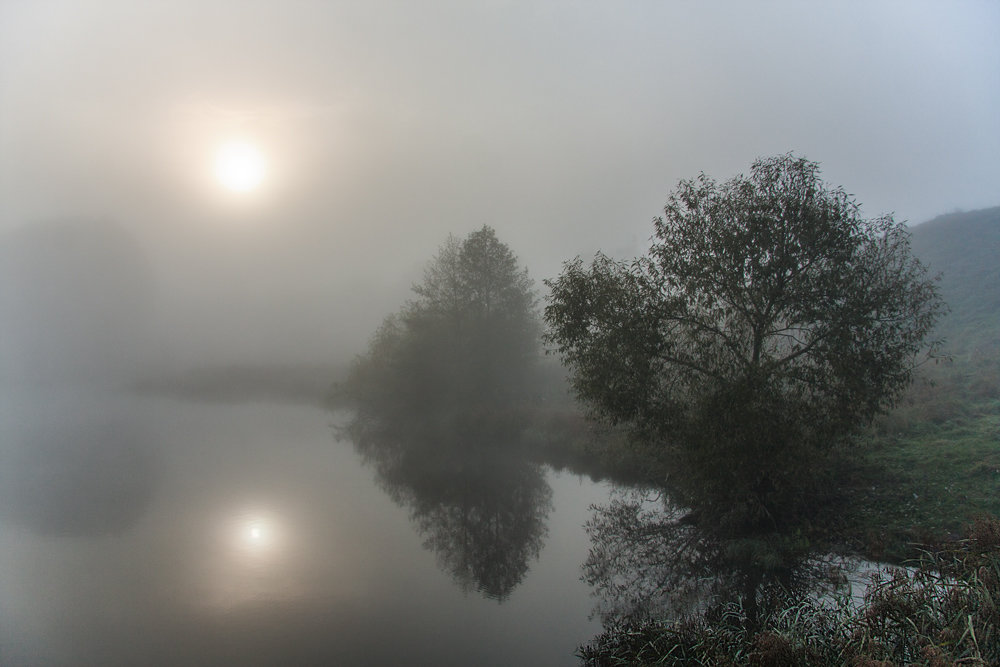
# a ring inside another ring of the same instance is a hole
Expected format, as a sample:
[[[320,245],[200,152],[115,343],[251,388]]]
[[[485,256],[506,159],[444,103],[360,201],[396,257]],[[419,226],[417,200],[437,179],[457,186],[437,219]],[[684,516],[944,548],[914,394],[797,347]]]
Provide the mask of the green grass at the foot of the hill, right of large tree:
[[[954,539],[978,516],[1000,516],[1000,397],[995,364],[962,364],[918,383],[861,443],[850,542],[896,561],[912,543]]]

